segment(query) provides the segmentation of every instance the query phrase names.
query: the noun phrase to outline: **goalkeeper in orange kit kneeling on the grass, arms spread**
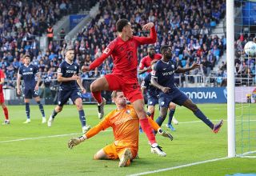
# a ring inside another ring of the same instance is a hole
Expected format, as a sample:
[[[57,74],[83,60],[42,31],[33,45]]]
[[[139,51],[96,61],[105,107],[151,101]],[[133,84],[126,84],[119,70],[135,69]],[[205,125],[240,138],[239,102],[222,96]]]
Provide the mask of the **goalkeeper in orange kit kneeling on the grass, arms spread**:
[[[72,149],[79,143],[98,134],[101,130],[112,127],[114,142],[99,150],[94,155],[94,159],[120,159],[119,167],[129,166],[130,161],[138,154],[138,115],[133,106],[126,104],[126,97],[124,97],[122,91],[114,90],[111,96],[117,109],[107,114],[102,122],[88,130],[86,134],[79,138],[71,138],[68,147]],[[152,128],[158,131],[158,134],[173,140],[173,137],[163,131],[151,118],[149,118],[149,122]],[[166,156],[166,154],[163,152],[161,156]]]

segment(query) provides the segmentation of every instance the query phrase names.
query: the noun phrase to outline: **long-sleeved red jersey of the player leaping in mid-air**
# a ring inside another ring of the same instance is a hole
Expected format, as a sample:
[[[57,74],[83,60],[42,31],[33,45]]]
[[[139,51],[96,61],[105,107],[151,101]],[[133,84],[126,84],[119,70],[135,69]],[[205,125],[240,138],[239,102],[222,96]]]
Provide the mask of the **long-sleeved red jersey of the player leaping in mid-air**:
[[[103,54],[90,64],[90,70],[100,66],[111,55],[114,62],[113,74],[121,74],[126,78],[137,78],[137,48],[142,44],[154,43],[156,40],[157,34],[154,27],[150,29],[150,37],[133,36],[124,42],[118,36],[106,46]]]

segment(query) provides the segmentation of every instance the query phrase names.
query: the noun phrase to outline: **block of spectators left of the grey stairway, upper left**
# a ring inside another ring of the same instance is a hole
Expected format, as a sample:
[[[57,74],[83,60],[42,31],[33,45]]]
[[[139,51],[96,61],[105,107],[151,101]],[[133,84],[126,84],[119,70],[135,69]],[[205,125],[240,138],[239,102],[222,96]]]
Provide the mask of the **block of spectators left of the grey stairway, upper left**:
[[[23,54],[30,54],[40,70],[47,71],[61,61],[42,54],[36,37],[70,10],[69,0],[6,0],[0,2],[0,68],[6,73],[8,86],[14,86]],[[58,52],[57,52],[58,53]],[[49,66],[50,65],[50,66]],[[53,72],[56,71],[54,68]]]

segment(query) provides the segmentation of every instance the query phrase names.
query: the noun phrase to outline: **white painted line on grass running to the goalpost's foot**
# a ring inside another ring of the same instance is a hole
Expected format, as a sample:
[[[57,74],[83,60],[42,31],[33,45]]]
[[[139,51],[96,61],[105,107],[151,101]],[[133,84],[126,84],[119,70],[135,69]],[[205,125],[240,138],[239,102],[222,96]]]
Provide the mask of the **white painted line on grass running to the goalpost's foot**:
[[[137,175],[143,175],[143,174],[154,174],[154,173],[158,173],[158,172],[164,172],[166,170],[176,170],[176,169],[183,168],[183,167],[199,165],[199,164],[203,164],[203,163],[207,163],[207,162],[216,162],[216,161],[220,161],[220,160],[224,160],[224,159],[228,159],[228,158],[227,157],[226,158],[215,158],[215,159],[210,159],[210,160],[206,160],[206,161],[202,161],[202,162],[192,162],[190,164],[169,167],[169,168],[165,168],[165,169],[161,169],[161,170],[152,170],[152,171],[142,172],[142,173],[138,173],[138,174],[129,174],[128,176],[137,176]]]

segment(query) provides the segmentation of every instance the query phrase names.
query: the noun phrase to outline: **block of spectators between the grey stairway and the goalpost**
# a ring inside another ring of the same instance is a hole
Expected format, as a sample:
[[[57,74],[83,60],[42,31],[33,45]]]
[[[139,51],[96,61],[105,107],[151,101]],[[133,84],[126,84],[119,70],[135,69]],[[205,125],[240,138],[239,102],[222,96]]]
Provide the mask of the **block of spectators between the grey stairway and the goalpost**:
[[[142,31],[147,22],[154,22],[158,42],[154,44],[159,53],[161,45],[173,47],[173,57],[182,67],[193,62],[202,63],[202,74],[210,74],[223,50],[226,38],[210,36],[211,30],[225,15],[225,1],[100,1],[101,13],[90,26],[80,32],[74,46],[82,64],[90,64],[106,48],[106,44],[117,37],[115,23],[119,18],[130,20],[134,35],[146,36]],[[138,60],[146,56],[146,46],[138,49]],[[86,58],[85,62],[84,59]],[[205,64],[205,61],[206,64]],[[113,68],[111,58],[85,78],[98,77]],[[197,74],[197,73],[193,73]]]

